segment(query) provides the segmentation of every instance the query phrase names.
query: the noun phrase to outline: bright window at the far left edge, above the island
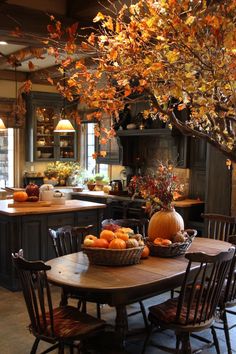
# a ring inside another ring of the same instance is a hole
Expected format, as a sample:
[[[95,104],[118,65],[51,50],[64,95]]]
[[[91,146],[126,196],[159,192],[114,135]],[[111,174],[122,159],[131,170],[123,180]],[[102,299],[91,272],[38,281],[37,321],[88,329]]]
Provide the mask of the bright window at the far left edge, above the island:
[[[14,186],[14,130],[0,132],[0,187]]]

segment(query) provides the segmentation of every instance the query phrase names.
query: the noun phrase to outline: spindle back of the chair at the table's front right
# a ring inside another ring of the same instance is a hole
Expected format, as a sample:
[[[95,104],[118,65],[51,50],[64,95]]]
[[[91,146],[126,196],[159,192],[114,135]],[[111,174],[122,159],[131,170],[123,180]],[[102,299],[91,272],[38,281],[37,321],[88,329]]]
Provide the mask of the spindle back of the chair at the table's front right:
[[[235,248],[231,247],[217,255],[202,252],[185,255],[189,262],[178,300],[177,323],[190,326],[211,323],[234,252]]]

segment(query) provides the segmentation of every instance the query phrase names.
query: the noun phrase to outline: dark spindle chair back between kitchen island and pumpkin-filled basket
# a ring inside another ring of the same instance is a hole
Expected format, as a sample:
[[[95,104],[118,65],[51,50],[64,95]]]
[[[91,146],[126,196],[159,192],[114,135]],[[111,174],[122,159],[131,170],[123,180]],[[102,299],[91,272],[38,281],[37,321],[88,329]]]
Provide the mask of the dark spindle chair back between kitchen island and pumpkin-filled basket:
[[[50,228],[48,231],[52,239],[56,257],[81,251],[84,237],[91,232],[92,228],[93,225],[66,225],[58,229]]]

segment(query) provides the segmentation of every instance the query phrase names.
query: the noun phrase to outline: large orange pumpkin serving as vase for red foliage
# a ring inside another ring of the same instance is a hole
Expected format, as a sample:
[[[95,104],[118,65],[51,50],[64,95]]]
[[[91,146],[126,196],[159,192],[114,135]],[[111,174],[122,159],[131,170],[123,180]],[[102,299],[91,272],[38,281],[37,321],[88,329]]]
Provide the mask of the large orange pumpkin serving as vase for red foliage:
[[[155,238],[172,239],[178,231],[184,230],[184,220],[174,209],[160,210],[152,215],[148,224],[148,238],[154,241]]]

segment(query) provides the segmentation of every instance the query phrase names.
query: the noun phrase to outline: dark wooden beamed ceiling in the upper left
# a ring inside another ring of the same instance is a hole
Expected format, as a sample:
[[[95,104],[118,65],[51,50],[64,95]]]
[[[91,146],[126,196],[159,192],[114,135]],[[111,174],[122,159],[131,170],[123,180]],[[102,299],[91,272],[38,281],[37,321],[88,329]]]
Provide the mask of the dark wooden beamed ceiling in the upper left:
[[[39,0],[38,8],[35,8],[37,0],[0,0],[0,41],[8,43],[6,46],[0,46],[0,79],[14,81],[17,71],[18,81],[29,78],[34,83],[47,83],[48,71],[56,75],[55,61],[44,53],[45,59],[34,62],[35,68],[30,71],[28,68],[28,61],[32,58],[30,48],[39,48],[40,43],[27,36],[27,33],[46,37],[49,23],[47,14],[55,14],[63,24],[78,21],[81,27],[88,27],[93,23],[92,20],[98,11],[104,11],[97,0],[60,0],[59,3],[60,6],[57,6],[58,0]],[[26,37],[13,37],[12,31],[16,27],[21,28]],[[22,53],[24,59],[21,60]],[[10,55],[20,58],[20,65],[17,68],[9,64]]]

